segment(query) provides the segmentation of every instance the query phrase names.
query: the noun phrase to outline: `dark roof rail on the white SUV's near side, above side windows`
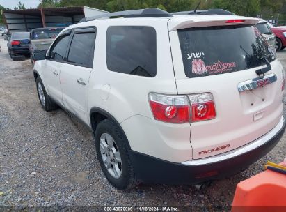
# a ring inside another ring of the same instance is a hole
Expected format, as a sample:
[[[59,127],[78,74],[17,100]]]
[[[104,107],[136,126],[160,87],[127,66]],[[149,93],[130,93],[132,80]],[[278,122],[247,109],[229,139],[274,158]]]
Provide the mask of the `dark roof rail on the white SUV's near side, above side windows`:
[[[95,15],[92,17],[86,17],[80,20],[80,22],[88,22],[97,19],[103,19],[108,17],[173,17],[170,13],[158,9],[158,8],[146,8],[141,10],[125,10],[114,13],[106,13],[102,15]]]

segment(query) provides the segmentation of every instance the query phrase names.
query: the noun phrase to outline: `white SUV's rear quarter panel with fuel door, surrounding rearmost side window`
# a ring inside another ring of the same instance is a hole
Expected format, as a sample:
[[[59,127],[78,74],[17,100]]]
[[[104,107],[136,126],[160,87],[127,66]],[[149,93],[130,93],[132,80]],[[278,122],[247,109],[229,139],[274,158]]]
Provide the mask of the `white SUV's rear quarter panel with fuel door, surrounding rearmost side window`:
[[[131,149],[163,160],[191,160],[190,125],[154,120],[148,94],[177,94],[168,36],[168,19],[102,20],[96,24],[95,61],[88,84],[88,109],[100,107],[122,126]],[[157,33],[157,75],[141,77],[108,70],[106,30],[109,26],[149,26]]]

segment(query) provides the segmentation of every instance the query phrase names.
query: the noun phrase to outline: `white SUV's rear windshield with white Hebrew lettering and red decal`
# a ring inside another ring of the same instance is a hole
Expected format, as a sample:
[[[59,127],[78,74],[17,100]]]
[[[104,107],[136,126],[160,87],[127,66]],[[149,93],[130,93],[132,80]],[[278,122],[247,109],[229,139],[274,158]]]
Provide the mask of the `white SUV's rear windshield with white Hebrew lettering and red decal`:
[[[232,73],[265,64],[275,56],[254,26],[198,27],[178,30],[187,77]]]

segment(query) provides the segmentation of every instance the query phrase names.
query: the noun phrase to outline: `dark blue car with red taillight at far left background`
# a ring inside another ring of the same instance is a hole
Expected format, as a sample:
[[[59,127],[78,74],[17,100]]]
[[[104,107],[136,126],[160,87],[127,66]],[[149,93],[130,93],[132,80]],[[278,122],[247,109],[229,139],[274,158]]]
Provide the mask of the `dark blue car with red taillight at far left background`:
[[[15,32],[11,34],[11,38],[7,43],[8,52],[13,59],[17,55],[30,55],[29,52],[30,33]]]

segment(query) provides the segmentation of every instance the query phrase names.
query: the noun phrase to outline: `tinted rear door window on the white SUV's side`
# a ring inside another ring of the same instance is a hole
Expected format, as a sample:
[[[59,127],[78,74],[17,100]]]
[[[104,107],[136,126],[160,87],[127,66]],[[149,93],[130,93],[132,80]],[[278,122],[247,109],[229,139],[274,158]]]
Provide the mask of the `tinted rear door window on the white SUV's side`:
[[[95,33],[74,33],[67,61],[93,67]]]

